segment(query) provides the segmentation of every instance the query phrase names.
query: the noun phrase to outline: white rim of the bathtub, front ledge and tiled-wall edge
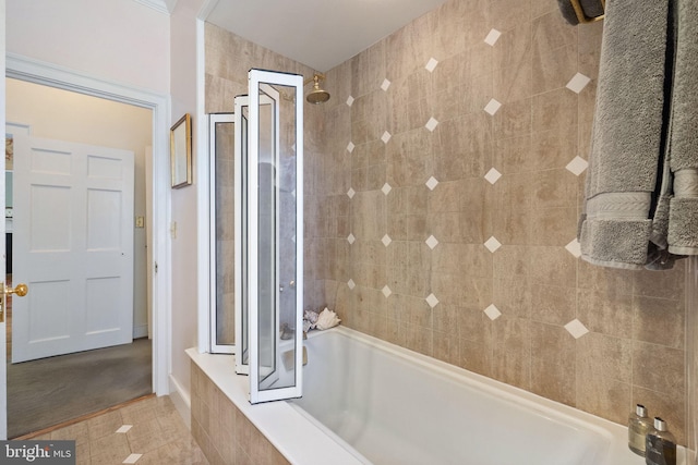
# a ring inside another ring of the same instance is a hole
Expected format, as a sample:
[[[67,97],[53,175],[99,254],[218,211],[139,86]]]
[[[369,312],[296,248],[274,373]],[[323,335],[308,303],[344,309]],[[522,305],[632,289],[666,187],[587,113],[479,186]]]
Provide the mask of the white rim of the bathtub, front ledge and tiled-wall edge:
[[[421,368],[435,370],[458,382],[484,389],[490,394],[503,394],[507,402],[519,405],[520,401],[524,401],[525,407],[541,415],[553,415],[558,421],[562,418],[569,418],[577,427],[591,430],[607,440],[609,454],[605,462],[607,465],[637,465],[640,463],[638,460],[641,457],[630,452],[627,446],[627,427],[623,425],[344,326],[325,331],[311,331],[308,338],[314,339],[333,332],[341,336],[357,339],[399,358],[407,358],[417,363]],[[230,355],[200,354],[194,347],[186,350],[186,353],[192,362],[208,376],[290,463],[321,465],[324,464],[321,458],[324,453],[332,454],[330,456],[337,465],[365,463],[342,444],[336,442],[327,433],[326,427],[318,426],[321,425],[318,421],[312,421],[312,415],[299,412],[300,406],[291,405],[288,402],[250,404],[246,396],[248,377],[234,374],[234,358]],[[299,437],[302,440],[299,440]],[[686,449],[684,446],[677,448],[676,463],[677,465],[686,465]]]

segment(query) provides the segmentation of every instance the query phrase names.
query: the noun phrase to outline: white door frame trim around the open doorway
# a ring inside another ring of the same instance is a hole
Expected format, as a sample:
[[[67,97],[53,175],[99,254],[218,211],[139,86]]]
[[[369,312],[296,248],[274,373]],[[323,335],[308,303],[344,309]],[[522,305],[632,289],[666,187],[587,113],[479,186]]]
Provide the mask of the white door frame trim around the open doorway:
[[[93,97],[148,108],[153,111],[153,391],[169,394],[171,315],[171,247],[169,189],[170,100],[167,95],[59,68],[15,53],[5,56],[5,77],[56,87]],[[7,386],[7,382],[5,382]]]

